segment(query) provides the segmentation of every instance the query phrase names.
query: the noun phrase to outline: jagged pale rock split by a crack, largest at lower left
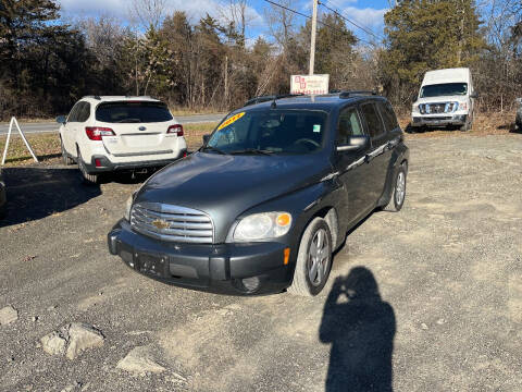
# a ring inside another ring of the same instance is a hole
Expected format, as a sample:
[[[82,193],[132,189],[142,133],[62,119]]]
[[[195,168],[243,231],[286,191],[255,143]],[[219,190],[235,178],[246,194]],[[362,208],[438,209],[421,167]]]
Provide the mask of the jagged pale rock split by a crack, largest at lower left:
[[[59,331],[53,331],[40,339],[41,347],[50,355],[63,355],[75,359],[83,351],[101,347],[104,336],[96,328],[73,322]]]

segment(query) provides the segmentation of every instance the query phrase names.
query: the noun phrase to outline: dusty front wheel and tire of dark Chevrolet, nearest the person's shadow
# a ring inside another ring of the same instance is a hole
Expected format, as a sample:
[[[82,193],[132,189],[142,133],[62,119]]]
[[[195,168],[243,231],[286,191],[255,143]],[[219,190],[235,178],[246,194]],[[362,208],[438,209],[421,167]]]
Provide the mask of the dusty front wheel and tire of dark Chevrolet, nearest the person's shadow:
[[[315,249],[314,253],[319,253],[320,256],[314,257],[311,253],[312,249]],[[315,269],[315,272],[312,271],[312,268]],[[315,218],[302,234],[294,281],[288,287],[288,292],[301,296],[318,295],[326,284],[331,270],[332,234],[326,221]]]

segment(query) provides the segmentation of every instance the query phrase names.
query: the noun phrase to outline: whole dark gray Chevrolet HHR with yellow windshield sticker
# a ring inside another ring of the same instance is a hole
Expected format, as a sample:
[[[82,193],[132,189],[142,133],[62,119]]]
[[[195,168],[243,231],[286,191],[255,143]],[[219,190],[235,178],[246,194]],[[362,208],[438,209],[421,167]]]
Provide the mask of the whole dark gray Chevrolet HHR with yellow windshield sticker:
[[[408,159],[383,97],[251,105],[129,198],[109,249],[184,287],[316,295],[348,230],[375,209],[401,209]]]

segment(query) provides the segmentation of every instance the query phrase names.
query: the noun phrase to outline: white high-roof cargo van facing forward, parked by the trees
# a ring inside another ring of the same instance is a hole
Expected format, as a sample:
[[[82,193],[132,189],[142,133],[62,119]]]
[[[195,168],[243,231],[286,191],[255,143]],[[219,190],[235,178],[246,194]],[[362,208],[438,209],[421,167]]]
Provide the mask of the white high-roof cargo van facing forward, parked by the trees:
[[[411,125],[458,126],[461,131],[469,131],[476,98],[470,69],[428,71],[413,103]]]

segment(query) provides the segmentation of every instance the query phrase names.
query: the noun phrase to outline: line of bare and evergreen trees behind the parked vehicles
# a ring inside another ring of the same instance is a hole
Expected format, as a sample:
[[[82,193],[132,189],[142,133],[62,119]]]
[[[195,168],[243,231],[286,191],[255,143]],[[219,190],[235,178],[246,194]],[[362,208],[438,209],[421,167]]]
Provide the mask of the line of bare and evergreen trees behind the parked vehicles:
[[[0,118],[65,113],[84,95],[228,110],[288,93],[289,76],[308,73],[311,23],[294,0],[277,3],[264,11],[268,34],[252,40],[246,0],[199,21],[164,14],[165,0],[134,1],[135,25],[65,21],[52,0],[0,0]],[[481,108],[506,109],[521,93],[521,15],[518,0],[401,0],[383,39],[362,42],[343,13],[322,9],[315,73],[330,74],[332,89],[378,89],[409,108],[425,71],[470,66]]]

